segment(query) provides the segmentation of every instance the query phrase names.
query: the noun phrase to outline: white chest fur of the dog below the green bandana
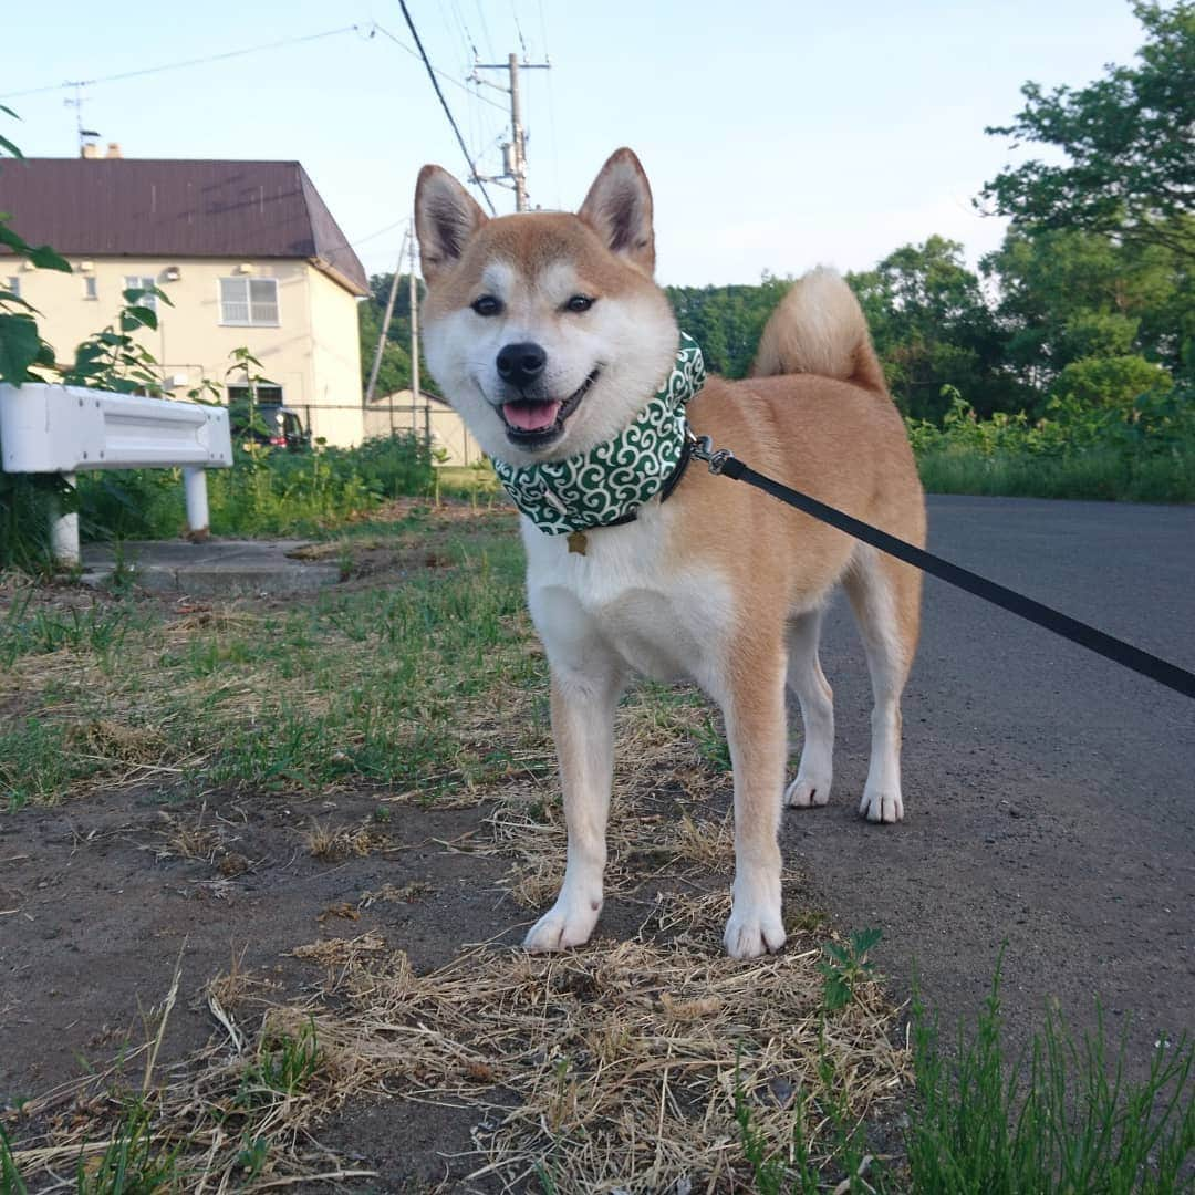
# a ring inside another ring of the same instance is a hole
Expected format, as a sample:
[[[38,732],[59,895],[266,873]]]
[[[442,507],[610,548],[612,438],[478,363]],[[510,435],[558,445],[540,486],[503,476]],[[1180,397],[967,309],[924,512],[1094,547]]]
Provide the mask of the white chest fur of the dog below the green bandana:
[[[660,515],[590,533],[583,556],[564,537],[525,526],[528,603],[553,666],[583,672],[614,652],[655,680],[704,682],[729,626],[730,595],[700,560],[663,563]]]

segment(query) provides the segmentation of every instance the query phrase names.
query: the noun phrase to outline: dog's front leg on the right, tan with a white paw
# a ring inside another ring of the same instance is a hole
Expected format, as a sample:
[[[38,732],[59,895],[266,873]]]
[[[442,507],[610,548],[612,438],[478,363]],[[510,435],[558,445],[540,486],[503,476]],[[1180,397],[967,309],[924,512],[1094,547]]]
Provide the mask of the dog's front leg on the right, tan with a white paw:
[[[735,885],[723,938],[735,958],[784,945],[780,915],[780,795],[788,755],[785,657],[759,644],[736,657],[722,695],[735,773]]]

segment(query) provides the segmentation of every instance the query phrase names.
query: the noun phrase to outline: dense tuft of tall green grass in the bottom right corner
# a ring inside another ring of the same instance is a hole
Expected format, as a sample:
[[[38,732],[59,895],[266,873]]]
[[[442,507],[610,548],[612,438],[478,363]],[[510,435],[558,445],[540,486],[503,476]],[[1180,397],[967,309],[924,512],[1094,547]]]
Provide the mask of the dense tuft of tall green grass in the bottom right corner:
[[[946,1058],[914,1001],[918,1110],[906,1130],[909,1189],[924,1195],[1187,1189],[1195,1150],[1195,1058],[1163,1035],[1147,1078],[1129,1083],[1126,1047],[1110,1059],[1103,1021],[1077,1046],[1056,1012],[1025,1054],[1005,1058],[1000,967],[978,1031]],[[1028,1060],[1028,1065],[1027,1065]]]

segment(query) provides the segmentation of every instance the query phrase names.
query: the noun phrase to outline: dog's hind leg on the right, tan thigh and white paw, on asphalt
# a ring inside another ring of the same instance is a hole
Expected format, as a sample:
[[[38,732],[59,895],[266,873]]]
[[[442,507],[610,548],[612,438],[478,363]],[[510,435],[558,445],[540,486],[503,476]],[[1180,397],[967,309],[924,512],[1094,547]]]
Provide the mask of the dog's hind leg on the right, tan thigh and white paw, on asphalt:
[[[905,816],[900,786],[900,697],[917,651],[921,575],[860,545],[844,586],[863,635],[875,697],[871,764],[859,813],[868,821],[900,821]]]

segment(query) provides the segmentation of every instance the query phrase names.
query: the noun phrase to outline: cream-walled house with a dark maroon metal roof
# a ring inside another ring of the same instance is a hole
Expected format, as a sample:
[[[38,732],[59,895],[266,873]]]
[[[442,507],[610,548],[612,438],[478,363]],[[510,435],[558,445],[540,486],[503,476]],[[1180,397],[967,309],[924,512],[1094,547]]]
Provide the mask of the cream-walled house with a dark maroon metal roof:
[[[90,151],[90,152],[88,152]],[[179,398],[201,379],[238,398],[229,353],[247,348],[271,386],[332,445],[362,439],[357,301],[366,272],[296,161],[26,158],[0,171],[0,212],[73,275],[32,269],[0,246],[0,280],[38,311],[61,363],[116,320],[121,292],[157,286],[159,326],[141,341]],[[6,269],[7,266],[7,269]]]

